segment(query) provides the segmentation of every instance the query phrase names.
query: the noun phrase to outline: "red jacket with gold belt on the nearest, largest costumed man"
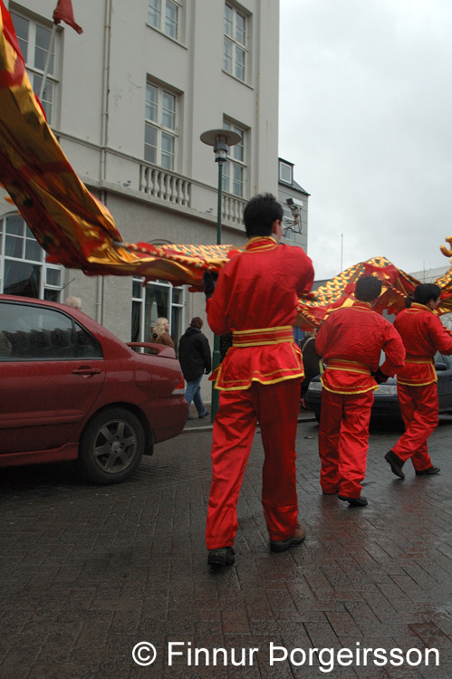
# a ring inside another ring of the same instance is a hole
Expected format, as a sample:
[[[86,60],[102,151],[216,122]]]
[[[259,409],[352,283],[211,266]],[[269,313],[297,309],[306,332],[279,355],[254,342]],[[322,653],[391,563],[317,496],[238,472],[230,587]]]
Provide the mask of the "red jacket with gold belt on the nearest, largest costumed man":
[[[207,300],[210,328],[216,335],[233,333],[233,346],[210,378],[216,388],[303,377],[292,326],[298,295],[311,290],[313,273],[301,247],[278,245],[271,236],[250,239],[245,252],[225,264]]]

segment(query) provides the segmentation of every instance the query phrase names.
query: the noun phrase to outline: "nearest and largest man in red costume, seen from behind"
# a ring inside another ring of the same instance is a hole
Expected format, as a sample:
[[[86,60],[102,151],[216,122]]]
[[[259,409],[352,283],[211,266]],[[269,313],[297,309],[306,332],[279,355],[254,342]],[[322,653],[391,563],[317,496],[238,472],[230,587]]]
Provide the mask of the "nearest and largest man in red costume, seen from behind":
[[[303,378],[293,341],[297,295],[309,292],[313,264],[300,247],[280,245],[283,208],[274,196],[245,207],[249,240],[214,285],[205,276],[207,320],[217,335],[232,332],[233,346],[211,379],[220,389],[213,428],[212,486],[206,541],[211,566],[235,562],[236,504],[259,422],[264,445],[262,504],[270,549],[304,540],[298,522],[295,436]]]

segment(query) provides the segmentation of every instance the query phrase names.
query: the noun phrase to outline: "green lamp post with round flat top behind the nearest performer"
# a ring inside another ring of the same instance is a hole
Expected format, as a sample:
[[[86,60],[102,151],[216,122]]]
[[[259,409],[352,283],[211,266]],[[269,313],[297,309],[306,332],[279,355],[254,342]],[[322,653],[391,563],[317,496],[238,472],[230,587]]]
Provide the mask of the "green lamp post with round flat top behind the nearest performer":
[[[232,129],[207,129],[203,132],[201,141],[214,148],[215,162],[218,163],[218,204],[216,210],[216,244],[221,245],[221,214],[222,214],[222,189],[223,189],[223,166],[227,162],[227,152],[230,146],[234,146],[242,139],[238,132]],[[220,338],[214,335],[214,354],[212,366],[217,368],[220,362]],[[212,405],[210,416],[212,422],[215,420],[218,410],[218,391],[212,383]]]

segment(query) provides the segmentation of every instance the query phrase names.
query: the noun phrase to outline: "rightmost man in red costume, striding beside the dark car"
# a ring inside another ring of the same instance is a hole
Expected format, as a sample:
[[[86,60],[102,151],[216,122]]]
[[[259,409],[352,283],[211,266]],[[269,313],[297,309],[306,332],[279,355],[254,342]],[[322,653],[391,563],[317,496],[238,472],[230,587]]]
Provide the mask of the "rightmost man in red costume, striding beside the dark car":
[[[427,449],[427,439],[438,425],[437,373],[433,357],[437,351],[452,354],[452,337],[434,311],[440,289],[434,283],[420,283],[414,301],[400,311],[394,325],[407,349],[405,368],[398,370],[397,387],[405,433],[385,455],[396,476],[405,478],[402,466],[411,458],[418,476],[439,472]]]

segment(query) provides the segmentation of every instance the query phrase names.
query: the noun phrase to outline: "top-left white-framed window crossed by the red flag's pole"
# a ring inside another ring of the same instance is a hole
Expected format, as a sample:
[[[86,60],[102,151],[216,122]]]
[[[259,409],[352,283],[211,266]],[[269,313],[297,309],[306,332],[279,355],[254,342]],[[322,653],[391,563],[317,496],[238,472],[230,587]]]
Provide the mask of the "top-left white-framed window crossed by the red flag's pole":
[[[14,30],[22,56],[24,57],[28,77],[32,83],[34,93],[39,96],[50,48],[52,29],[16,12],[11,12],[11,18],[13,19]],[[43,95],[41,96],[41,103],[43,104],[43,110],[49,125],[52,125],[55,115],[56,88],[58,85],[58,62],[55,58],[55,51],[58,46],[58,38],[57,31],[49,60]]]

